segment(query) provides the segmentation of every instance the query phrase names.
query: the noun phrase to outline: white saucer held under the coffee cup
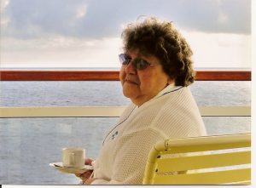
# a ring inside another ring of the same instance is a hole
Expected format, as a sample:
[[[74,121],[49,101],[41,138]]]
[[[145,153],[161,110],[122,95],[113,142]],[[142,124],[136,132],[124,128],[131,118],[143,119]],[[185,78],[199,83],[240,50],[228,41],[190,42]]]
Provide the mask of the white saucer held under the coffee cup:
[[[64,168],[62,162],[52,162],[49,166],[58,169],[61,173],[67,174],[83,174],[88,170],[92,170],[93,167],[90,165],[84,165],[84,168]]]

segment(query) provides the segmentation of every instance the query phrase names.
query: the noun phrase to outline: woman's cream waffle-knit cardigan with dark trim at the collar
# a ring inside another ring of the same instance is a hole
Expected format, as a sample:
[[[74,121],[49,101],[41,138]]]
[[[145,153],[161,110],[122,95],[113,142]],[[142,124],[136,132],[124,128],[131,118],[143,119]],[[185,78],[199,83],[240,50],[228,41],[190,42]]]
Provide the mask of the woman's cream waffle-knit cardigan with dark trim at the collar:
[[[202,135],[206,129],[189,88],[168,86],[140,107],[126,108],[103,141],[92,184],[140,185],[156,142]]]

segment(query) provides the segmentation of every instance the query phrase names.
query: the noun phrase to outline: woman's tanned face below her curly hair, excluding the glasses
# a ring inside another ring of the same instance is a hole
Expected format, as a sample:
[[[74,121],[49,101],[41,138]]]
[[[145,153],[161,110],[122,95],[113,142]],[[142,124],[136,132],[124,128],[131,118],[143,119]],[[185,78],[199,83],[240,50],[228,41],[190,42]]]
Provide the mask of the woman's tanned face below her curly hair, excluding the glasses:
[[[131,62],[121,67],[119,78],[123,94],[134,104],[143,105],[144,102],[154,98],[163,88],[172,83],[156,57],[143,56],[138,50],[128,51],[125,54],[131,58],[131,61],[140,58],[152,65],[143,70],[137,70]]]

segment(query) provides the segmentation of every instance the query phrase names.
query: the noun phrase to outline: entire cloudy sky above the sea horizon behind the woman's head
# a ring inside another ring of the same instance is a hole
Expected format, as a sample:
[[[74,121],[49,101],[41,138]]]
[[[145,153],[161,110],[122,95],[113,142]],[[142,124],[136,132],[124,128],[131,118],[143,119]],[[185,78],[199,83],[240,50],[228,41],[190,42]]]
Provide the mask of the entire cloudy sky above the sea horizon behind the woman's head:
[[[250,0],[1,0],[0,67],[118,67],[120,33],[172,20],[195,67],[251,66]]]

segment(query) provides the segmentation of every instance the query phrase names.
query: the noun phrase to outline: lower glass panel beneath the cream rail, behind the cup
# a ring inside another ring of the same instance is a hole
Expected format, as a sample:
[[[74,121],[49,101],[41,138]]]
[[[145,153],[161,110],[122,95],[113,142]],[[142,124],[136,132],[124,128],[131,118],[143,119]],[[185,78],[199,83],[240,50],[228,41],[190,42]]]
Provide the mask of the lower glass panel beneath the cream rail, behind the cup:
[[[250,117],[203,117],[209,135],[250,132]],[[73,185],[79,179],[49,167],[61,148],[78,146],[96,158],[117,118],[0,118],[0,184]]]

